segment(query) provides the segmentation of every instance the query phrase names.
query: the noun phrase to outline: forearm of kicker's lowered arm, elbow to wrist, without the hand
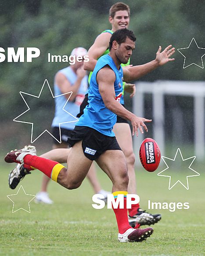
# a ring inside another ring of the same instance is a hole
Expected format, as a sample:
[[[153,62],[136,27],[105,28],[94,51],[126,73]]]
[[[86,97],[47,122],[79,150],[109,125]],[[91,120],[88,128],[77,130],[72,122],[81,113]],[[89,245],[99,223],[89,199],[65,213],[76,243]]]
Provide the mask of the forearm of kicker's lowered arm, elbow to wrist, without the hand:
[[[119,115],[123,119],[131,121],[135,116],[132,112],[129,112],[126,108],[124,108],[119,102],[113,101],[104,101],[105,107],[108,108],[111,112]]]

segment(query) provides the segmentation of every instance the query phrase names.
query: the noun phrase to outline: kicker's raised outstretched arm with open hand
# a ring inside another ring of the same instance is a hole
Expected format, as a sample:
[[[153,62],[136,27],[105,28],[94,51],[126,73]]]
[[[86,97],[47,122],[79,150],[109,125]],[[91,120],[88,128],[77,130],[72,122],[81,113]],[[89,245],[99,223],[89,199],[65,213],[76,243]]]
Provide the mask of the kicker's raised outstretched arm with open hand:
[[[174,58],[170,58],[175,52],[175,48],[172,48],[172,45],[166,47],[162,52],[161,50],[162,47],[160,46],[154,61],[150,61],[144,65],[123,68],[124,81],[129,82],[139,79],[140,77],[145,76],[149,72],[157,69],[159,66],[165,65],[169,61],[174,61]]]

